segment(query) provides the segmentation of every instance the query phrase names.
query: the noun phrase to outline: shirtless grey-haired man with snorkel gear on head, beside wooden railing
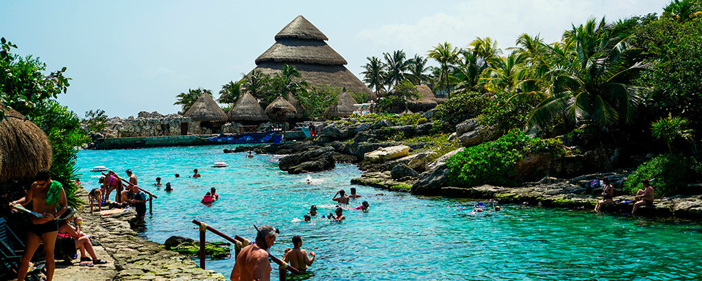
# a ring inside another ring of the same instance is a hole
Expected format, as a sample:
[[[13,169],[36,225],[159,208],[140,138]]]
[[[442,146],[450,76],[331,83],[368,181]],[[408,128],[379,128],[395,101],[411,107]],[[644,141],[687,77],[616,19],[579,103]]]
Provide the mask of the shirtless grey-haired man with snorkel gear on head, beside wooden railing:
[[[272,226],[261,226],[258,228],[256,242],[244,247],[239,252],[234,268],[232,268],[232,281],[270,281],[270,261],[268,261],[268,249],[275,243],[275,238],[279,233],[277,228]]]

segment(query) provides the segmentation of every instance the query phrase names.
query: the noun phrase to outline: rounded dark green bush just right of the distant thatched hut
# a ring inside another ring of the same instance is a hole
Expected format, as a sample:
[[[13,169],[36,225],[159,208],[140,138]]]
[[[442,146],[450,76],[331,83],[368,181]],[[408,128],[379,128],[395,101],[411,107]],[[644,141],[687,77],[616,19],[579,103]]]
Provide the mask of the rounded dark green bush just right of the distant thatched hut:
[[[434,119],[445,124],[458,124],[479,115],[488,100],[480,93],[465,92],[451,95],[445,103],[437,105]]]

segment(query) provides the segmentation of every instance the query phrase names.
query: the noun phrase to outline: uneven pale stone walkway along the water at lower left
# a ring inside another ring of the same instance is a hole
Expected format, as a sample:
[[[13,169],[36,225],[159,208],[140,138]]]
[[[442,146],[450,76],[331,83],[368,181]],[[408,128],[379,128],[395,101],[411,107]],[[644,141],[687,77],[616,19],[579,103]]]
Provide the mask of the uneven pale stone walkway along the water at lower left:
[[[80,189],[77,193],[81,198],[87,197],[86,190]],[[97,210],[93,214],[88,213],[89,210],[89,206],[84,206],[79,214],[84,221],[83,230],[91,235],[98,259],[107,263],[79,266],[76,259],[72,266],[56,266],[53,280],[225,281],[221,273],[202,270],[192,259],[167,251],[162,244],[138,237],[129,225],[135,211],[100,216]]]

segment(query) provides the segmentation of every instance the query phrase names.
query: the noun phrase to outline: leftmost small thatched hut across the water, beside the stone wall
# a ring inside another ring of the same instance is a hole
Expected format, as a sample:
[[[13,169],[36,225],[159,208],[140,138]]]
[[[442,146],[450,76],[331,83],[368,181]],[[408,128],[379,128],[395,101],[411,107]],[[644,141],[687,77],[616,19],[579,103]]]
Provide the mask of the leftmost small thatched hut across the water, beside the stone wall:
[[[201,94],[183,116],[193,121],[188,125],[191,133],[221,133],[222,125],[227,123],[224,110],[208,93]]]

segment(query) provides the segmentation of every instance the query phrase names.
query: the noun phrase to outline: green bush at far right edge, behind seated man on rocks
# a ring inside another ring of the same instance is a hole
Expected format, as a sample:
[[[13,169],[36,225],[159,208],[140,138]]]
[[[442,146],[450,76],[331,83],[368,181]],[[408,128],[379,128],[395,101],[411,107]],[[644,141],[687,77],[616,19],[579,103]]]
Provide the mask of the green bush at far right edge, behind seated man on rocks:
[[[643,189],[642,180],[656,178],[651,182],[656,190],[656,198],[674,195],[678,187],[698,179],[701,171],[700,162],[694,157],[680,154],[658,155],[629,175],[624,183],[624,192],[636,194],[637,190]]]

